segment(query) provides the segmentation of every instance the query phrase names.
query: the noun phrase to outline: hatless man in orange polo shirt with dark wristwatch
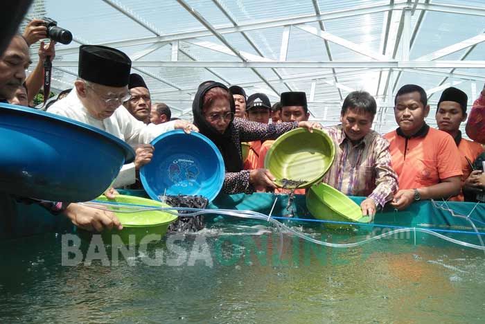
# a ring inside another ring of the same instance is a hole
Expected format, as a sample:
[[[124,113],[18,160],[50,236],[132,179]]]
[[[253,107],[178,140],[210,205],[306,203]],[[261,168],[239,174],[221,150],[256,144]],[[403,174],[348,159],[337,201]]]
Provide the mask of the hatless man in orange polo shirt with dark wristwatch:
[[[394,105],[399,127],[384,136],[399,183],[391,206],[402,210],[413,201],[458,195],[463,175],[458,148],[450,134],[425,123],[430,106],[424,89],[406,84],[396,93]]]

